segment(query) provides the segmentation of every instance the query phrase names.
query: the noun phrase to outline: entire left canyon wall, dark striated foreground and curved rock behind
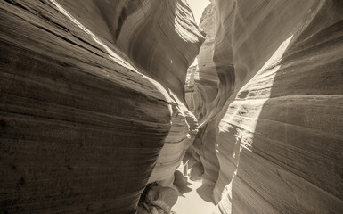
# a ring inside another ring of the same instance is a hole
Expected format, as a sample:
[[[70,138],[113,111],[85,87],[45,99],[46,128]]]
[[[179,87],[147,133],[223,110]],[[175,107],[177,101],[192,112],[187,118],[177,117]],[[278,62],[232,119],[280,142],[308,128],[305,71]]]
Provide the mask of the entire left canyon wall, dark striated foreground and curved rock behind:
[[[196,131],[183,88],[202,36],[184,1],[139,2],[0,3],[1,211],[135,213],[166,139],[173,176]]]

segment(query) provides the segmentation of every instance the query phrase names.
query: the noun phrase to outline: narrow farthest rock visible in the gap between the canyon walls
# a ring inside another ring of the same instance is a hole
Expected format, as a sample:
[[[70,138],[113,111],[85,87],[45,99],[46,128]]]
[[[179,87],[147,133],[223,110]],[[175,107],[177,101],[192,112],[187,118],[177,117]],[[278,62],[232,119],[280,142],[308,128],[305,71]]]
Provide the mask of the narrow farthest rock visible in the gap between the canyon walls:
[[[216,65],[213,62],[213,53],[216,36],[216,8],[208,4],[200,19],[200,28],[206,33],[206,40],[200,47],[197,60],[188,70],[186,80],[186,100],[190,110],[199,120],[201,125],[210,104],[216,98],[218,77]],[[216,128],[215,119],[202,124],[198,136],[189,149],[189,152],[201,161],[204,174],[202,184],[214,186],[219,173],[219,163],[216,159]]]

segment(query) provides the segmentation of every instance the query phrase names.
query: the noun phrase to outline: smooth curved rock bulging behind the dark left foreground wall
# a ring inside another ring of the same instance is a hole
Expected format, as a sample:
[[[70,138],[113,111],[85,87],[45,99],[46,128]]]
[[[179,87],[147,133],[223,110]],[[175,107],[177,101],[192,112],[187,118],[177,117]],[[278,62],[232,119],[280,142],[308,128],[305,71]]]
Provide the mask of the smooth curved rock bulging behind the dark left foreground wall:
[[[102,11],[116,5],[107,1],[99,4]],[[116,26],[110,13],[105,18],[109,26]],[[149,179],[149,183],[170,186],[198,130],[197,119],[185,104],[184,82],[186,70],[204,41],[203,33],[185,0],[129,1],[121,19],[117,28],[111,28],[112,33],[118,32],[115,43],[140,70],[158,80],[171,97],[171,129]]]

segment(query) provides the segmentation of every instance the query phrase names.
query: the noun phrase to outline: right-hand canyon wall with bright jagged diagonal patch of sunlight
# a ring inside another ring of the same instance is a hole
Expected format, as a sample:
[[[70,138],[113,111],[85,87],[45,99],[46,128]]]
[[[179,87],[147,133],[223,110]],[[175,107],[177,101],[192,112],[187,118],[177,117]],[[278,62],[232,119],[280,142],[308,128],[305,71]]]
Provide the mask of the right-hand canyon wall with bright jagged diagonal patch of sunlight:
[[[340,213],[342,2],[215,4],[215,212]]]

